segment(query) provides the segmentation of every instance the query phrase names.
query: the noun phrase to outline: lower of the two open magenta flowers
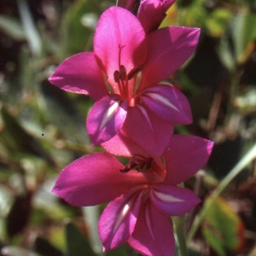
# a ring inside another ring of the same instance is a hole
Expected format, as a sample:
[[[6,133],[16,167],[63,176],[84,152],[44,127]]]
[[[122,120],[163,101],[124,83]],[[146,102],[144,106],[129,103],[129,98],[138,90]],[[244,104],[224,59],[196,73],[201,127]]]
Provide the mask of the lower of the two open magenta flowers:
[[[172,222],[200,199],[177,186],[207,163],[212,142],[173,135],[163,157],[131,147],[124,166],[112,154],[85,155],[67,166],[53,192],[74,206],[112,201],[102,212],[99,234],[104,250],[125,241],[143,255],[174,254]]]

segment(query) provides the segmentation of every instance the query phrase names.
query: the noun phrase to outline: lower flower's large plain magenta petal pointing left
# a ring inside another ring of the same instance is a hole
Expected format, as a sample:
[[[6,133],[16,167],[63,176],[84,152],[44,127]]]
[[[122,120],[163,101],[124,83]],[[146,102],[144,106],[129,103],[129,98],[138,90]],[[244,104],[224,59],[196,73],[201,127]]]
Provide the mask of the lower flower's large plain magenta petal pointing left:
[[[112,154],[85,155],[63,169],[52,192],[73,206],[83,207],[112,201],[148,182],[142,172],[120,172],[124,167]]]

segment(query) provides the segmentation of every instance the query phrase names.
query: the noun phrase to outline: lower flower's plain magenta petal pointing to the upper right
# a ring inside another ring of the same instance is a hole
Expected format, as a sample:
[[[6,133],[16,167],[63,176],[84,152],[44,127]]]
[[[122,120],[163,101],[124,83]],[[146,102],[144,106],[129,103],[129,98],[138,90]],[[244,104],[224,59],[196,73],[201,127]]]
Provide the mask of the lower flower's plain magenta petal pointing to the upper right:
[[[166,160],[166,184],[177,185],[192,177],[211,154],[213,143],[201,137],[173,135],[163,155]]]

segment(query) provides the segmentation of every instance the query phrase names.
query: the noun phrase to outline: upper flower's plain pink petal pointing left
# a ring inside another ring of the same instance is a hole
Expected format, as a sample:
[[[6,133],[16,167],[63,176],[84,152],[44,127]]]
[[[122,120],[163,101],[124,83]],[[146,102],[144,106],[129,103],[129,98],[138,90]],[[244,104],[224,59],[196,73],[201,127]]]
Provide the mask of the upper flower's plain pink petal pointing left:
[[[63,90],[89,95],[96,101],[109,95],[104,74],[93,52],[67,58],[56,68],[49,82]]]

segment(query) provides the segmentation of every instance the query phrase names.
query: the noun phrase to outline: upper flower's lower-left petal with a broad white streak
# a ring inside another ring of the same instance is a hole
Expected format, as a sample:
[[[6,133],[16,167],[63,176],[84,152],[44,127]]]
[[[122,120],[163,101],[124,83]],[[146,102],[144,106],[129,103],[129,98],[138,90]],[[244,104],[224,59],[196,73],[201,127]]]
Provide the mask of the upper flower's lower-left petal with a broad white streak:
[[[118,95],[106,96],[94,104],[86,123],[93,144],[104,143],[116,135],[125,122],[126,108],[127,102]]]

